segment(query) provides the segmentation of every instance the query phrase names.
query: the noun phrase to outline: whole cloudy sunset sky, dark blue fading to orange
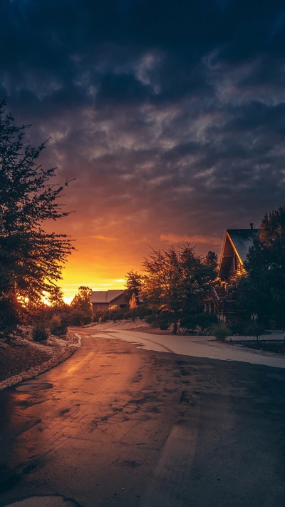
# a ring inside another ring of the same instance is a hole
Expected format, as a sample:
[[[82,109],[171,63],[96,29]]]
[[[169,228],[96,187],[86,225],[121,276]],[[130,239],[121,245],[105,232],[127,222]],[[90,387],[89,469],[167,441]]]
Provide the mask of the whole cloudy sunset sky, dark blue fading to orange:
[[[1,0],[0,47],[0,98],[76,178],[67,301],[284,205],[284,2]]]

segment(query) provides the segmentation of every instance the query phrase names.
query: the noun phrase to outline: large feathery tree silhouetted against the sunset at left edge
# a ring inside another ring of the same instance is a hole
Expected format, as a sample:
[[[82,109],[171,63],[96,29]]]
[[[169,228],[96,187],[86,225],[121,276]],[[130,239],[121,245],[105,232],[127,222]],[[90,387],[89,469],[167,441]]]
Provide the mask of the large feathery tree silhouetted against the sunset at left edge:
[[[0,314],[7,300],[53,293],[73,250],[66,235],[43,230],[46,220],[69,214],[58,198],[70,181],[52,183],[56,168],[38,163],[46,143],[35,148],[26,141],[28,127],[16,126],[0,103]]]

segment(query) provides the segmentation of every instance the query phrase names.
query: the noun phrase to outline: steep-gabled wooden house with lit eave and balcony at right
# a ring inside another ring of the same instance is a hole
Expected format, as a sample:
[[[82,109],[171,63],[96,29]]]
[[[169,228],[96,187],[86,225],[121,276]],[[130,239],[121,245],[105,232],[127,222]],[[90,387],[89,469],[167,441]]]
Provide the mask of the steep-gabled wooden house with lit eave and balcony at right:
[[[229,316],[235,312],[239,277],[246,272],[244,261],[258,229],[227,229],[219,260],[218,278],[204,297],[204,311]]]

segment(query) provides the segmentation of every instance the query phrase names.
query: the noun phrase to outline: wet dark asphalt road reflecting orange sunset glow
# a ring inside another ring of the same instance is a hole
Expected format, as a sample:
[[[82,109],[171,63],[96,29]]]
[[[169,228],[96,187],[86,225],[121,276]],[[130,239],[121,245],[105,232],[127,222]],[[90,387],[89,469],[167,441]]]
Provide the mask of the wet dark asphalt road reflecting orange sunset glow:
[[[283,507],[285,370],[88,337],[0,394],[0,506]]]

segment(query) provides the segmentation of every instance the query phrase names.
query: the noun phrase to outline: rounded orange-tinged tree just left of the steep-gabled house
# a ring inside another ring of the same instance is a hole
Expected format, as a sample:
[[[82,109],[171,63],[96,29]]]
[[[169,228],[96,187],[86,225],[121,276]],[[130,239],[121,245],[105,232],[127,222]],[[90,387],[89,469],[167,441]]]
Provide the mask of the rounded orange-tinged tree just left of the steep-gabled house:
[[[195,255],[195,248],[186,243],[179,250],[152,250],[144,267],[142,297],[153,309],[172,313],[176,334],[177,320],[199,305],[202,293],[217,277],[216,265],[209,257]]]

